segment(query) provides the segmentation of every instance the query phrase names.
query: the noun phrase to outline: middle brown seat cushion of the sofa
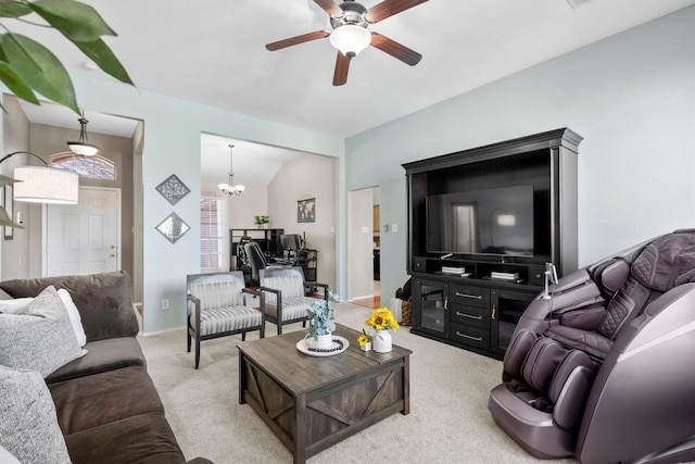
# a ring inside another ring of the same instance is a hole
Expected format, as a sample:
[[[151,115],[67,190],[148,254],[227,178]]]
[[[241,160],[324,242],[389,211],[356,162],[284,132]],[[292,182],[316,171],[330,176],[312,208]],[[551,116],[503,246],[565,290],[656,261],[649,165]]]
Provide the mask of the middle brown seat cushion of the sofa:
[[[49,386],[64,435],[147,413],[164,413],[142,367],[125,367]]]

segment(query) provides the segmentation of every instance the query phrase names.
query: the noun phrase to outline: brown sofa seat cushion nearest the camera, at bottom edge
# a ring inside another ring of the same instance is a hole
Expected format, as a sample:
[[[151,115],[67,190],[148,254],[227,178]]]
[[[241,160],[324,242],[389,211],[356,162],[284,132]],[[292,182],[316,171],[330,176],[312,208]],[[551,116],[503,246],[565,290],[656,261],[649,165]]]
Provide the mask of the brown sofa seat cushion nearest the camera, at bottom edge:
[[[163,413],[148,413],[65,436],[74,464],[176,464],[184,453]]]

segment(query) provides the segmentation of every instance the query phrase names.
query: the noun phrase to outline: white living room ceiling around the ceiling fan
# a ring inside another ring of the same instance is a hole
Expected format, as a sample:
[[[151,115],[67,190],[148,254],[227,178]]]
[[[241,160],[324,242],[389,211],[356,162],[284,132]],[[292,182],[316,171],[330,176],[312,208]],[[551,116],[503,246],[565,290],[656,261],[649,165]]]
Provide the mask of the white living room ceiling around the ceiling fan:
[[[421,53],[419,64],[410,67],[368,48],[352,60],[348,84],[333,87],[337,52],[328,38],[274,52],[264,47],[330,30],[327,13],[313,0],[83,1],[118,33],[105,41],[140,89],[336,137],[379,126],[695,4],[592,0],[572,9],[567,0],[429,0],[369,26]],[[379,0],[362,3],[370,8]],[[54,32],[5,18],[3,24],[48,45],[71,73],[110,79],[87,70],[86,59]],[[68,127],[76,126],[75,115],[67,113]],[[88,129],[100,131],[96,116],[87,116]],[[220,170],[229,170],[228,143],[219,137],[201,142],[203,160],[210,158],[207,147],[227,154],[214,155],[215,166],[204,162],[204,173],[215,174],[211,181],[226,180],[218,177]],[[235,145],[235,180],[241,181],[247,168],[242,158],[253,149],[238,140]]]

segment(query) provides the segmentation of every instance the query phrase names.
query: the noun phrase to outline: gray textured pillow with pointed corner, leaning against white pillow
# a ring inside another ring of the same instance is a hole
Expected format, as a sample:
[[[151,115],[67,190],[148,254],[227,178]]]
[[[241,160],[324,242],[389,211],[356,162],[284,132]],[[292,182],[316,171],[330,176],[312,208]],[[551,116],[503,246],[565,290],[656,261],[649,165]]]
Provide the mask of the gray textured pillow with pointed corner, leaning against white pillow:
[[[46,377],[85,353],[53,286],[22,313],[0,314],[0,365],[30,368]]]

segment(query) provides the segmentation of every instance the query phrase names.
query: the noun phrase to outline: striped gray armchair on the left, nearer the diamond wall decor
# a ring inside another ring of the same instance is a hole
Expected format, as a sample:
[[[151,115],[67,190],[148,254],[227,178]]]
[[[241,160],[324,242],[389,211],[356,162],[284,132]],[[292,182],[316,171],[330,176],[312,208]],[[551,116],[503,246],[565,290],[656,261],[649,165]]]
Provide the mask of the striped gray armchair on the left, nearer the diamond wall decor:
[[[188,352],[195,340],[195,368],[200,363],[200,342],[228,335],[258,330],[265,337],[265,297],[244,287],[240,271],[191,274],[186,277]],[[256,302],[250,301],[255,296]],[[252,306],[253,304],[253,306]],[[254,308],[255,304],[258,309]]]

